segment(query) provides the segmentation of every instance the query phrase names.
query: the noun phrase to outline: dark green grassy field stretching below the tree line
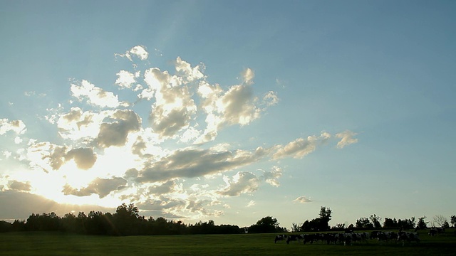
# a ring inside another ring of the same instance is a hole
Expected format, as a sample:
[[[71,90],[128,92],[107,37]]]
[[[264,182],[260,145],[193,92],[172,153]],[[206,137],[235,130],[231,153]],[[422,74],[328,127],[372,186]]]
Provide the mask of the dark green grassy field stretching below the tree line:
[[[352,246],[303,245],[281,241],[275,234],[157,235],[109,237],[67,233],[0,233],[0,255],[456,255],[453,230],[435,237],[420,233],[421,242]]]

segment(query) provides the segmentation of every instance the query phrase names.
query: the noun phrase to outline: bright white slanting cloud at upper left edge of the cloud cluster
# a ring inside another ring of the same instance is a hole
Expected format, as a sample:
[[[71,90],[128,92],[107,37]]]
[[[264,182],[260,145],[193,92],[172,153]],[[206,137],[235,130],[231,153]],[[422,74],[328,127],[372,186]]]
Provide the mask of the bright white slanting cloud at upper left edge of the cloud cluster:
[[[128,105],[125,102],[119,102],[118,96],[113,92],[106,92],[100,87],[95,87],[87,80],[82,80],[79,84],[71,84],[71,93],[73,97],[82,101],[87,99],[91,105],[98,107],[119,107],[120,105]]]

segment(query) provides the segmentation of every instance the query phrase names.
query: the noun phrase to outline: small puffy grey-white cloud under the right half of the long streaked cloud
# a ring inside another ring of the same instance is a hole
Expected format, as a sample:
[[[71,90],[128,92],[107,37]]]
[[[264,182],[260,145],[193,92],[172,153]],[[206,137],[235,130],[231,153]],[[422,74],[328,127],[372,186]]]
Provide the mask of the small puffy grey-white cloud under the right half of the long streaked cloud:
[[[232,178],[224,176],[225,183],[227,186],[218,191],[222,196],[239,196],[242,193],[252,193],[257,191],[259,187],[259,178],[247,171],[239,171]]]

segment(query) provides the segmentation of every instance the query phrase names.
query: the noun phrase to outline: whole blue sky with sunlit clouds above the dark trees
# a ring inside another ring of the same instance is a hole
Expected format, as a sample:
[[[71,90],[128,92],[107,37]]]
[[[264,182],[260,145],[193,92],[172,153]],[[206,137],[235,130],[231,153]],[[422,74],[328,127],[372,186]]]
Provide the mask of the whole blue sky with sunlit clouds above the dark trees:
[[[456,214],[455,1],[0,6],[2,220]]]

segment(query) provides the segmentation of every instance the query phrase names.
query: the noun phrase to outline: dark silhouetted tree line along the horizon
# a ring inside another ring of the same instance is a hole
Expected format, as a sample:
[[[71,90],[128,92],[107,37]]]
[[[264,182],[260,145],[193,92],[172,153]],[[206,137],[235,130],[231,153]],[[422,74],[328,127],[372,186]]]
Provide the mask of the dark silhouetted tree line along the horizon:
[[[266,216],[249,227],[239,228],[237,225],[215,225],[213,220],[199,221],[195,224],[185,224],[178,220],[165,218],[145,218],[139,215],[138,207],[133,203],[123,203],[115,213],[90,211],[88,215],[79,212],[78,215],[66,213],[59,217],[56,213],[32,213],[27,220],[14,220],[13,223],[0,220],[0,232],[11,231],[61,231],[86,235],[190,235],[190,234],[239,234],[239,233],[286,233],[328,230],[373,230],[373,229],[425,229],[429,225],[440,228],[456,227],[456,215],[450,216],[450,223],[442,215],[436,215],[430,224],[423,216],[410,219],[385,218],[383,224],[377,215],[356,220],[355,225],[346,227],[345,224],[328,225],[332,210],[321,206],[318,218],[306,220],[304,223],[292,223],[291,230],[281,227],[276,218]]]

